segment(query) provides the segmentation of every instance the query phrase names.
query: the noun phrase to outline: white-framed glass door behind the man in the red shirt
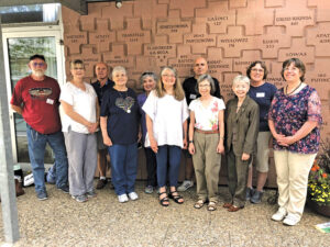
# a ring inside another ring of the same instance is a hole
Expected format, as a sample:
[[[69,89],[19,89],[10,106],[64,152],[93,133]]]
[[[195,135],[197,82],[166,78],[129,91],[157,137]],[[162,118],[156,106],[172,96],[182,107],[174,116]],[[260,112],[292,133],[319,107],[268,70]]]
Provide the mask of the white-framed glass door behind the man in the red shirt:
[[[42,27],[45,29],[45,27]],[[47,29],[47,27],[46,27]],[[63,83],[63,52],[61,32],[40,30],[36,32],[3,32],[4,56],[7,58],[7,90],[11,98],[16,82],[30,74],[28,63],[30,56],[42,54],[46,58],[46,75]],[[9,99],[10,100],[10,99]],[[23,117],[10,111],[13,141],[13,158],[15,162],[30,162],[28,151],[26,124]],[[53,162],[52,149],[47,146],[45,162]]]

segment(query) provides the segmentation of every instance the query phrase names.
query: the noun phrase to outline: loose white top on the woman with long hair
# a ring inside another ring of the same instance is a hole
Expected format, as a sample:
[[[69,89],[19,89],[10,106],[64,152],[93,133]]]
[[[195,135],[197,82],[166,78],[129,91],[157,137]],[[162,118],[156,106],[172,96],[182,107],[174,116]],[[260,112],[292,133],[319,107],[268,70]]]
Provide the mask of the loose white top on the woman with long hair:
[[[183,123],[189,116],[186,99],[178,101],[169,94],[158,98],[152,91],[142,109],[153,121],[153,134],[158,146],[184,147]],[[145,137],[145,146],[150,147],[148,135]]]

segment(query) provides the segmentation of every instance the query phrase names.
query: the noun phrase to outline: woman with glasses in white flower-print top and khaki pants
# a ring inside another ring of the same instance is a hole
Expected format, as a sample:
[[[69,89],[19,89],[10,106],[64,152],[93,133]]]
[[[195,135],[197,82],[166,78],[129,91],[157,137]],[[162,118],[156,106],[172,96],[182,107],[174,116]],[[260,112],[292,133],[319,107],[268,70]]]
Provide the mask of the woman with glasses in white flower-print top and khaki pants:
[[[198,194],[198,201],[194,207],[200,209],[209,200],[209,211],[217,209],[221,154],[224,153],[223,114],[226,106],[222,99],[211,96],[215,90],[212,77],[200,76],[196,87],[200,98],[189,104],[189,153],[193,155]]]

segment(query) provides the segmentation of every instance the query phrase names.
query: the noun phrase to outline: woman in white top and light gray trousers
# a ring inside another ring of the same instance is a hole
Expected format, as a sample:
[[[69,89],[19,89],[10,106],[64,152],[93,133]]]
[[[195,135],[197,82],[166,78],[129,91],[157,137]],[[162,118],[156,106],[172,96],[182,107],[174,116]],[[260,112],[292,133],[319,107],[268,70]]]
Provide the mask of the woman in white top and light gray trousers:
[[[94,175],[97,167],[99,104],[94,88],[84,82],[82,60],[70,63],[73,79],[62,89],[59,101],[64,111],[62,131],[68,157],[69,193],[77,202],[96,197]]]

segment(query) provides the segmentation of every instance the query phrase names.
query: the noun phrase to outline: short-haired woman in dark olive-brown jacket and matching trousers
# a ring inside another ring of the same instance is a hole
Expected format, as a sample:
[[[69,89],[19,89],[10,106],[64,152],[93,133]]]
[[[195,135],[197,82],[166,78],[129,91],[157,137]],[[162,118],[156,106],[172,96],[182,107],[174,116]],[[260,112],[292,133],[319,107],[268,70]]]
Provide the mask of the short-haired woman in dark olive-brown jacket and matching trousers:
[[[223,204],[229,212],[244,207],[248,169],[256,146],[258,132],[258,105],[248,96],[250,79],[237,76],[232,90],[235,98],[226,109],[226,151],[230,197]]]

